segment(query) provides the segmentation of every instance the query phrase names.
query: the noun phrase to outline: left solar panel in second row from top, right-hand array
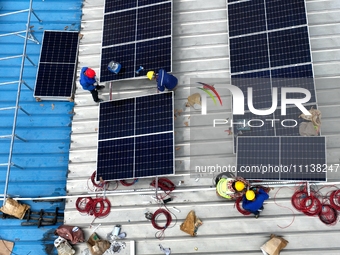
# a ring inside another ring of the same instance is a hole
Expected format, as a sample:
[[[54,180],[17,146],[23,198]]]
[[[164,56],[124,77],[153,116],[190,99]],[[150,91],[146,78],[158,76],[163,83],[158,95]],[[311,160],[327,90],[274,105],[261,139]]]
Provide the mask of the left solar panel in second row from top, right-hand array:
[[[267,34],[230,39],[231,72],[269,68]]]

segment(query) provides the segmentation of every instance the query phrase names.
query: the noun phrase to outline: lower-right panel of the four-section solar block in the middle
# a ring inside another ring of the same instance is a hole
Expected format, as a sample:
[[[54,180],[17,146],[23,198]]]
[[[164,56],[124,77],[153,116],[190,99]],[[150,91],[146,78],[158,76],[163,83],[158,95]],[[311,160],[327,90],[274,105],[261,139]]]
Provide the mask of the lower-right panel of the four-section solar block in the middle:
[[[173,133],[136,137],[135,177],[173,174]]]

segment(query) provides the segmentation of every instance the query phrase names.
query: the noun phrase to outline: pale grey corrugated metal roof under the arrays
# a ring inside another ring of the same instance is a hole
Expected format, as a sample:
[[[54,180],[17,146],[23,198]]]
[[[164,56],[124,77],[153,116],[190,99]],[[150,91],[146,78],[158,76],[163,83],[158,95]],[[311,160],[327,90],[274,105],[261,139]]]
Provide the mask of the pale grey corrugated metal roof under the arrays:
[[[340,3],[337,0],[307,0],[306,3],[318,104],[323,114],[322,134],[327,137],[328,163],[334,164],[339,163],[340,154]],[[103,5],[103,0],[84,3],[84,37],[80,44],[79,68],[91,66],[99,71]],[[179,192],[174,194],[174,201],[168,204],[169,208],[175,206],[181,210],[181,213],[174,212],[177,225],[165,231],[164,240],[157,240],[154,237],[156,229],[144,218],[144,212],[155,211],[158,204],[150,196],[130,192],[128,195],[109,197],[111,213],[104,219],[96,219],[94,225],[102,224],[97,233],[105,238],[115,224],[121,224],[122,231],[127,233],[127,243],[135,240],[135,253],[145,255],[161,254],[159,243],[171,247],[172,254],[262,254],[259,247],[271,233],[283,235],[289,241],[282,254],[339,254],[340,246],[334,239],[339,234],[339,224],[328,227],[317,218],[296,211],[293,215],[291,210],[277,206],[273,199],[267,202],[258,220],[244,217],[236,211],[232,201],[216,196],[212,179],[195,181],[190,178],[190,162],[213,159],[235,164],[232,138],[227,136],[224,129],[211,132],[210,121],[205,119],[195,126],[187,127],[184,124],[190,117],[184,104],[194,79],[211,81],[213,77],[230,81],[227,7],[225,0],[174,0],[173,7],[173,73],[179,78],[175,108],[184,109],[182,116],[175,121],[176,147],[179,150],[176,150],[176,175],[171,177],[175,184],[179,181],[184,183],[177,188]],[[148,80],[113,83],[113,98],[155,91],[155,84]],[[102,97],[109,98],[108,85]],[[230,102],[230,97],[226,100]],[[75,102],[67,182],[69,195],[87,194],[87,179],[96,168],[98,106],[93,103],[90,93],[83,91],[79,84]],[[230,112],[229,109],[216,114],[225,118]],[[339,173],[329,173],[328,180],[339,181]],[[148,188],[150,181],[139,180],[133,188]],[[119,186],[118,189],[126,188]],[[189,192],[192,189],[195,191]],[[271,192],[277,203],[290,208],[292,194],[289,188],[280,190],[278,194]],[[179,230],[180,223],[191,209],[204,222],[195,238]],[[67,224],[82,227],[88,236],[92,232],[89,227],[92,220],[91,216],[79,216],[74,199],[67,201]],[[78,248],[80,251],[86,246]],[[127,248],[121,254],[130,252]]]

